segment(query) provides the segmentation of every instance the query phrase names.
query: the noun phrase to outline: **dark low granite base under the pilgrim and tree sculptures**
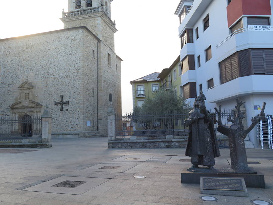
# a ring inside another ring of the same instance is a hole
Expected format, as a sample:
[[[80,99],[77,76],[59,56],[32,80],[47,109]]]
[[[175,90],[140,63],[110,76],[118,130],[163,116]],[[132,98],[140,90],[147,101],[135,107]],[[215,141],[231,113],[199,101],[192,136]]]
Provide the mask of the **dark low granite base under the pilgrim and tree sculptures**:
[[[205,168],[204,168],[205,169]],[[184,169],[181,173],[181,183],[182,184],[200,184],[201,176],[209,177],[242,177],[244,178],[245,185],[252,188],[265,188],[265,176],[262,173],[235,173],[235,172],[192,172]]]

